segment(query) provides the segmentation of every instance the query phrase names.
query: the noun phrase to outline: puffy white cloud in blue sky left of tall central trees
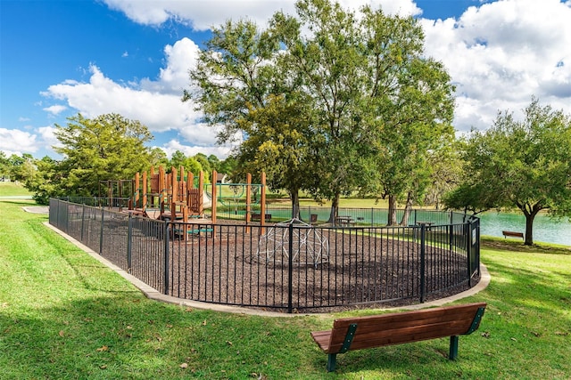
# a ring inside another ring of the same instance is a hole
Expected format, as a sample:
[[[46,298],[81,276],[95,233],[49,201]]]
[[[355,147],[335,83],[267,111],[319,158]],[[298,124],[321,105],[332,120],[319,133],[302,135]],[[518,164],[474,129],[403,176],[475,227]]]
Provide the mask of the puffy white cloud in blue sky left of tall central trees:
[[[203,150],[211,149],[208,147],[216,145],[216,131],[199,124],[197,120],[201,114],[194,111],[194,105],[181,101],[183,89],[189,82],[188,70],[194,66],[199,49],[185,37],[167,45],[164,53],[165,66],[156,80],[144,78],[138,83],[120,84],[91,65],[89,82],[66,80],[49,86],[43,95],[67,101],[70,108],[77,109],[85,117],[118,113],[139,120],[151,132],[175,131],[183,142]]]

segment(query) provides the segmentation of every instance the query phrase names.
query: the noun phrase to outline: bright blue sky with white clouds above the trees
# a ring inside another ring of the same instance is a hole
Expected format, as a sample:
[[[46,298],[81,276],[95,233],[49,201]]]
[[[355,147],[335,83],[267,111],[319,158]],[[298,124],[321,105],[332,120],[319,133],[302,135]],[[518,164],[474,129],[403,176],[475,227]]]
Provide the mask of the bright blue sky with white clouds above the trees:
[[[536,96],[571,113],[570,0],[342,0],[414,15],[426,54],[457,85],[459,133],[516,116]],[[187,71],[211,25],[263,26],[289,0],[0,0],[0,150],[57,157],[54,124],[117,112],[152,131],[153,146],[224,158],[215,131],[182,103]]]

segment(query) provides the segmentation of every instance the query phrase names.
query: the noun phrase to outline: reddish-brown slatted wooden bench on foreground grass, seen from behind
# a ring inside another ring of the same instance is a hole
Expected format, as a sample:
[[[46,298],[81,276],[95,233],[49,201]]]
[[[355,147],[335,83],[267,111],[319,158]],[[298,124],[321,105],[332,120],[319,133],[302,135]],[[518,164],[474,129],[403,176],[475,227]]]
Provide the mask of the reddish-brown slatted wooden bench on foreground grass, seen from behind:
[[[313,340],[327,353],[327,371],[335,371],[337,353],[450,336],[449,358],[458,356],[459,335],[473,333],[486,303],[468,303],[370,317],[335,319],[333,329],[314,331]]]

